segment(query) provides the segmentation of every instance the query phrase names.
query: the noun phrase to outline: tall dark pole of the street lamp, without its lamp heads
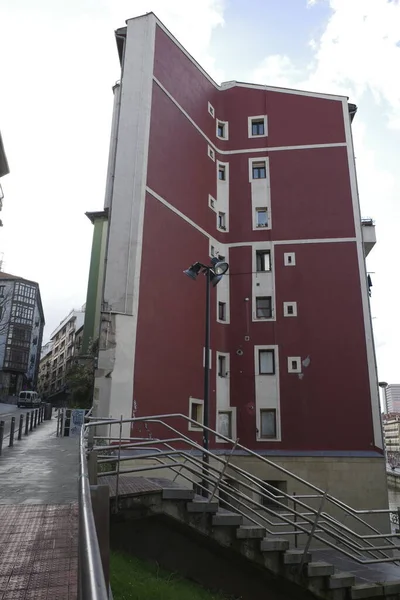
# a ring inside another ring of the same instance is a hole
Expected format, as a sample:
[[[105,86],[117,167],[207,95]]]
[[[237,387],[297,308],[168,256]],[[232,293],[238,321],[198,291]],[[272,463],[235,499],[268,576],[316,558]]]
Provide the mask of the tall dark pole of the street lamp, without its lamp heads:
[[[206,335],[204,343],[204,406],[203,406],[203,480],[201,482],[201,493],[208,497],[208,465],[210,462],[208,456],[209,431],[206,427],[210,426],[210,274],[211,269],[206,269]]]

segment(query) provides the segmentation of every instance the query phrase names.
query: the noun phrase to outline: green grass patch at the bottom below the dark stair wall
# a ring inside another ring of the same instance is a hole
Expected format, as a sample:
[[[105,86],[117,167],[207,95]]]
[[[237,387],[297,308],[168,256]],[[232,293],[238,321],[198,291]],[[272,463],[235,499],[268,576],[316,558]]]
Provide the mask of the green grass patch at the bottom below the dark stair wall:
[[[199,585],[122,552],[111,552],[114,600],[227,600]]]

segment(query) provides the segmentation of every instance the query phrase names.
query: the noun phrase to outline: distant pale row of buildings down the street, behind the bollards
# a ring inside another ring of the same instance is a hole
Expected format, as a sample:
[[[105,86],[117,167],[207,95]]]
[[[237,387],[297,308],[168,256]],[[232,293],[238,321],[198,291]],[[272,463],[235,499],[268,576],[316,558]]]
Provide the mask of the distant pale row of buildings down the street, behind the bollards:
[[[80,352],[77,339],[81,339],[84,319],[84,307],[71,310],[42,349],[39,389],[49,402],[58,403],[67,399],[66,375],[74,357]]]

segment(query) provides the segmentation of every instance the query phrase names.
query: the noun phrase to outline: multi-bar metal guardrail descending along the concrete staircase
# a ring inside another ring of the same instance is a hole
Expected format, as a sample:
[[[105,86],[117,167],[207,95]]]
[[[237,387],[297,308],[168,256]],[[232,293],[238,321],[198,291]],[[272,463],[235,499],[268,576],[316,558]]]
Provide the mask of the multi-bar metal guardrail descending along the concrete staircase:
[[[290,538],[296,547],[302,545],[305,552],[311,541],[317,540],[323,546],[333,548],[361,564],[398,560],[392,554],[394,550],[400,550],[400,545],[395,543],[398,535],[380,531],[366,520],[373,520],[382,515],[390,517],[390,514],[396,511],[353,509],[327,490],[318,488],[281,465],[242,446],[237,440],[231,440],[209,427],[204,427],[211,435],[230,444],[227,456],[221,456],[205,450],[184,434],[182,428],[179,430],[168,421],[174,424],[181,421],[186,430],[189,423],[199,427],[196,421],[181,414],[119,420],[93,419],[86,425],[86,431],[98,427],[108,429],[107,437],[92,436],[94,445],[88,449],[88,453],[90,457],[96,457],[97,452],[101,453],[98,458],[99,464],[115,465],[112,470],[97,474],[99,478],[116,476],[115,510],[118,511],[122,475],[167,470],[173,479],[181,478],[190,486],[208,494],[209,500],[213,497],[218,498],[224,508],[241,514],[249,523],[263,527],[268,535]],[[122,437],[123,424],[126,423],[131,426],[141,424],[149,436]],[[166,436],[151,437],[152,425],[164,429]],[[118,434],[113,436],[112,428],[115,427],[118,428]],[[105,440],[106,445],[99,445],[100,440]],[[268,467],[288,479],[291,478],[304,493],[291,495],[277,490],[273,485],[232,462],[237,453],[257,461],[259,470],[261,467]],[[207,464],[203,462],[204,454],[209,457]],[[136,463],[136,466],[121,468],[126,461]],[[361,530],[363,533],[360,533]]]

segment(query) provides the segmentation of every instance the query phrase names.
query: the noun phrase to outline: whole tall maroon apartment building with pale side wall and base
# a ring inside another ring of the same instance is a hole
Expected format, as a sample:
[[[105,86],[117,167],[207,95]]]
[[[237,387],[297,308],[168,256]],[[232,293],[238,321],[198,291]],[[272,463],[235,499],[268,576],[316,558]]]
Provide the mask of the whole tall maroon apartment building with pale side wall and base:
[[[197,415],[201,444],[205,282],[183,271],[223,256],[210,426],[352,506],[387,506],[356,107],[217,85],[152,13],[116,41],[97,414]]]

